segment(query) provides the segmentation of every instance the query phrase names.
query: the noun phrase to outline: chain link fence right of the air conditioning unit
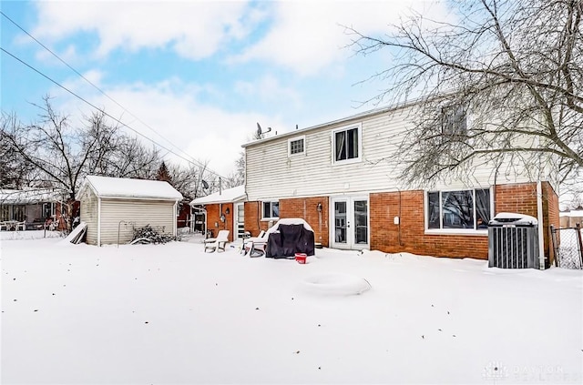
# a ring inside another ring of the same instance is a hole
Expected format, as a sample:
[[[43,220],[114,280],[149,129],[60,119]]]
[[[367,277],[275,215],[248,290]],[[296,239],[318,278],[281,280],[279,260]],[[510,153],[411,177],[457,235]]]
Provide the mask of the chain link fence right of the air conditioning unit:
[[[579,224],[576,228],[551,226],[550,229],[555,249],[555,265],[558,268],[583,269],[583,234]]]

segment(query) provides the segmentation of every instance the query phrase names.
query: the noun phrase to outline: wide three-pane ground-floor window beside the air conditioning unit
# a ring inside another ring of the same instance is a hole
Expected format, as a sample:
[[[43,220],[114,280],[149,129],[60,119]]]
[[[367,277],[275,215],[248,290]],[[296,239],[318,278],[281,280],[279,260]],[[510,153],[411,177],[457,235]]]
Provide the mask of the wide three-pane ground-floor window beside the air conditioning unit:
[[[427,193],[428,229],[486,229],[490,216],[487,188]]]

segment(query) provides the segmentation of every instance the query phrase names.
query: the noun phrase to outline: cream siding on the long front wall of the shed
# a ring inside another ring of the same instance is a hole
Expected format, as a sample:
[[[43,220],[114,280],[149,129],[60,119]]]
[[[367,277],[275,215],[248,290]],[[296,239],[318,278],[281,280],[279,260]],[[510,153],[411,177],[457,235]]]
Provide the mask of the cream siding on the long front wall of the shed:
[[[133,228],[150,225],[169,235],[174,234],[176,217],[174,201],[148,199],[101,200],[101,244],[128,243],[133,238]]]

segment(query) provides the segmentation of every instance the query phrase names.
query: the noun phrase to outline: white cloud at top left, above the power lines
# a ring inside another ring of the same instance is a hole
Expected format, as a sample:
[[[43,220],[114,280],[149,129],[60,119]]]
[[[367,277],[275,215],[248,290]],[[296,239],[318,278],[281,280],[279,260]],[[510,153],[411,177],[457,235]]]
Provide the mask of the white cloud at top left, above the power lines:
[[[57,41],[78,32],[96,32],[97,54],[116,48],[138,50],[171,46],[180,56],[198,59],[250,32],[242,1],[38,2],[33,35]]]

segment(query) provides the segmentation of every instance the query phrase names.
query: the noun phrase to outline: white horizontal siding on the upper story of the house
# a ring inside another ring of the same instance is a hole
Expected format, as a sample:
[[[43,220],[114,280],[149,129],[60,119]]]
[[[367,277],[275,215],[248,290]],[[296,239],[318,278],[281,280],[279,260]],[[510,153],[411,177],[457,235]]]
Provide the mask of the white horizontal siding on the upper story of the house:
[[[246,191],[249,200],[409,189],[398,179],[404,167],[404,159],[400,157],[398,147],[412,127],[414,113],[414,107],[405,107],[306,129],[302,135],[305,136],[305,146],[310,148],[310,153],[305,157],[288,157],[288,139],[291,136],[282,135],[248,145],[245,149]],[[334,164],[332,132],[336,128],[357,125],[361,125],[362,129],[362,160],[358,163]],[[525,174],[503,173],[507,168],[505,166],[499,168],[496,177],[494,168],[480,167],[465,180],[456,178],[437,182],[435,189],[489,187],[495,182],[527,181]]]

